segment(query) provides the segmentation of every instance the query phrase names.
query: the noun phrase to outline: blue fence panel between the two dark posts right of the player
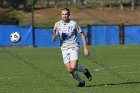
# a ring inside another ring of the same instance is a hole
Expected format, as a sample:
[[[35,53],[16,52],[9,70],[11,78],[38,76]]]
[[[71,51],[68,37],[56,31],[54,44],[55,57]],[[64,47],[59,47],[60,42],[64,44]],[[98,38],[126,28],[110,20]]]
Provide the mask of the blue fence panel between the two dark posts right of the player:
[[[120,44],[119,26],[92,26],[92,45]]]

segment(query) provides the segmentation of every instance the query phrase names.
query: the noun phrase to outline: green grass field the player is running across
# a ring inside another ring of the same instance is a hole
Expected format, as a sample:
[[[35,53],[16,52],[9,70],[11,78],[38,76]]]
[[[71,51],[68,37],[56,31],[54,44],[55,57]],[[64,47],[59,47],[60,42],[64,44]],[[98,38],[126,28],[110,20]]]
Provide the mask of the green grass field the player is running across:
[[[93,80],[75,87],[60,48],[0,48],[0,93],[140,93],[140,45],[89,46]]]

